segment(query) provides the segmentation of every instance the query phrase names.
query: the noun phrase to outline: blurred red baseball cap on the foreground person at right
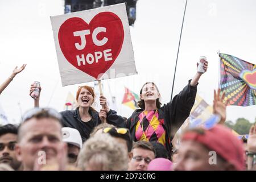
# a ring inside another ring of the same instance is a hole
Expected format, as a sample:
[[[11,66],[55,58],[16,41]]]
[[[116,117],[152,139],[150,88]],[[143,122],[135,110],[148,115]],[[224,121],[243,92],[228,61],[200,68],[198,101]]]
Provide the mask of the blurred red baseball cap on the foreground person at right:
[[[223,159],[232,163],[237,170],[245,169],[242,142],[228,127],[217,124],[209,130],[204,129],[202,134],[189,130],[183,135],[181,140],[199,142],[209,148],[209,150],[216,151]]]

